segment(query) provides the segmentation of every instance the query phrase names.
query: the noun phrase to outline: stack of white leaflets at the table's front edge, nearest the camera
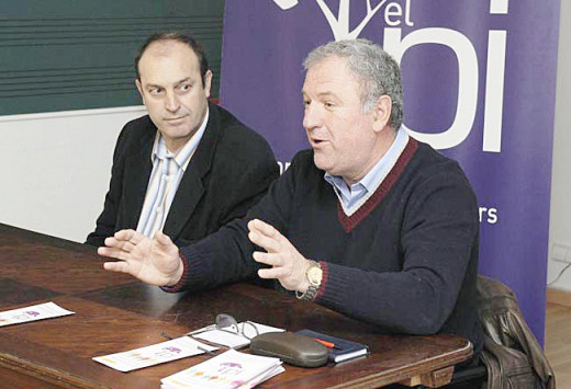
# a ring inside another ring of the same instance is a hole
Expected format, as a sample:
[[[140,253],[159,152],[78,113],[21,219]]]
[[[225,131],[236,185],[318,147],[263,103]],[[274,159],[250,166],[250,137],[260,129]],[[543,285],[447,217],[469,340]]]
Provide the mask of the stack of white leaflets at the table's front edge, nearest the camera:
[[[254,388],[284,370],[279,358],[228,350],[206,362],[163,378],[160,388]]]

